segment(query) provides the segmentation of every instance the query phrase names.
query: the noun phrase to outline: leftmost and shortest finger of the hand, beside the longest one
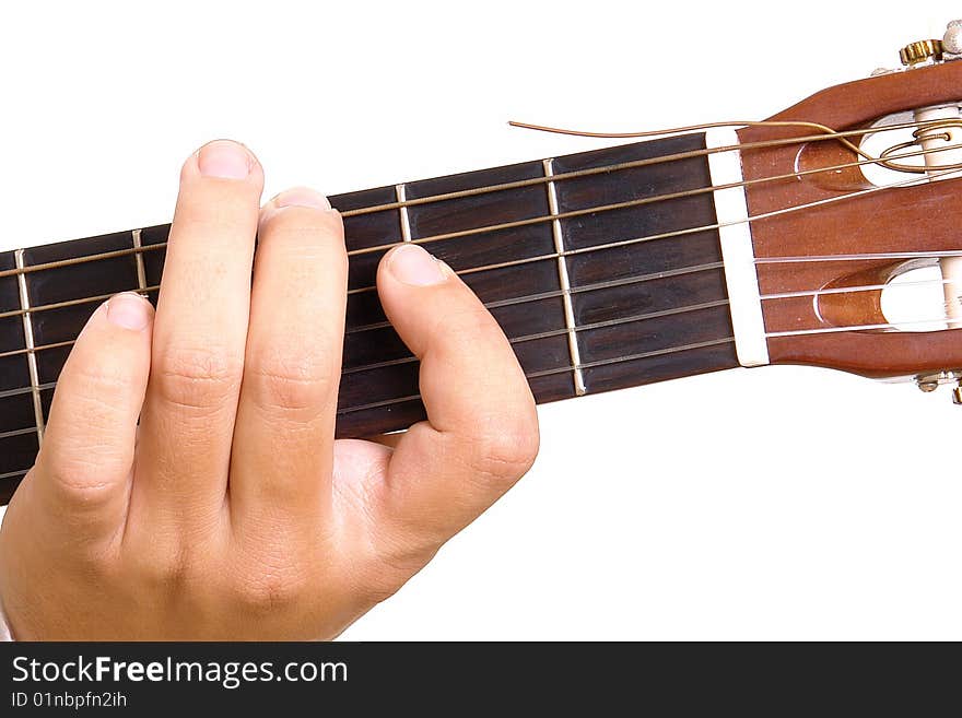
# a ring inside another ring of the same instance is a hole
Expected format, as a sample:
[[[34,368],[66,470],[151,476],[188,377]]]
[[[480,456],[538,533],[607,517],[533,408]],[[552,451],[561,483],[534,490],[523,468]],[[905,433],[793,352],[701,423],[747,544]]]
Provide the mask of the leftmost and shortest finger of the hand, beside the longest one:
[[[118,294],[94,311],[60,373],[28,491],[77,523],[64,528],[101,532],[126,516],[152,325],[146,299]]]

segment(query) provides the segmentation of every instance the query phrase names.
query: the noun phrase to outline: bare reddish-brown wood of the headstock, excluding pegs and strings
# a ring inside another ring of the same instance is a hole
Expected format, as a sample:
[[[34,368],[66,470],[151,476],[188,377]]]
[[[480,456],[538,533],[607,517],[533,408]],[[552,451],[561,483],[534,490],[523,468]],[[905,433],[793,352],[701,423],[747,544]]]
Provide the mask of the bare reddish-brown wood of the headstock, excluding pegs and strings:
[[[903,113],[911,120],[919,108],[960,101],[962,61],[952,61],[831,87],[771,119],[818,122],[845,132]],[[810,128],[762,126],[742,129],[738,134],[743,144],[752,144],[812,132]],[[849,139],[855,144],[860,141],[858,136]],[[749,183],[818,167],[852,165],[859,160],[838,141],[746,148],[742,152],[743,174]],[[818,365],[871,377],[918,376],[962,368],[960,329],[836,330],[884,325],[881,289],[854,287],[885,284],[908,267],[912,260],[904,255],[931,252],[929,261],[937,261],[942,252],[962,251],[962,178],[952,177],[866,192],[863,190],[871,185],[858,167],[849,166],[798,175],[785,181],[748,185],[752,216],[850,195],[843,201],[814,204],[752,223],[756,259],[849,256],[847,261],[758,264],[763,297],[836,290],[821,297],[763,301],[772,363]],[[911,175],[906,174],[906,179],[911,180]],[[883,254],[903,257],[878,257]],[[867,257],[852,260],[850,256]],[[808,330],[818,331],[805,333]]]

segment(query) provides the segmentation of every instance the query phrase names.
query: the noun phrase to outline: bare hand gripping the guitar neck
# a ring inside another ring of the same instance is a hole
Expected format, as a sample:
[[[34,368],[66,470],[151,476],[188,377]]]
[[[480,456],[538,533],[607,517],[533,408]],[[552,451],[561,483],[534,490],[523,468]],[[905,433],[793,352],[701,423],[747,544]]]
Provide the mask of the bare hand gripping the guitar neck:
[[[341,217],[306,188],[260,207],[262,187],[243,145],[188,157],[156,315],[118,295],[78,339],[0,530],[16,638],[335,637],[533,462],[511,345],[410,245],[377,289],[429,419],[392,446],[335,440]]]

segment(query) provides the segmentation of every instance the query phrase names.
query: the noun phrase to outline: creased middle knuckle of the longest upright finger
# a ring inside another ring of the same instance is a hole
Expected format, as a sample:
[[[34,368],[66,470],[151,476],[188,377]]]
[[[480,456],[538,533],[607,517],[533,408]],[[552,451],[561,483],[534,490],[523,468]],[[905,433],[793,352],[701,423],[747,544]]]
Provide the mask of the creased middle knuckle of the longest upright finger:
[[[218,349],[167,350],[155,373],[162,399],[187,409],[218,408],[241,386],[244,363]]]

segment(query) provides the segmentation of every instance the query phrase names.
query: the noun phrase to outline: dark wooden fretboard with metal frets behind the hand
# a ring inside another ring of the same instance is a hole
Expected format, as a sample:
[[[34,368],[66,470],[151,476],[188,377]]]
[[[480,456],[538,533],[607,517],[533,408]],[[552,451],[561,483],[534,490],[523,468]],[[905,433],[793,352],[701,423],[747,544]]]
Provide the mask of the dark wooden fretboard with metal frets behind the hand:
[[[399,242],[422,244],[471,286],[539,402],[737,366],[704,148],[704,134],[685,134],[331,197],[350,254],[338,436],[425,417],[418,362],[374,289]],[[156,303],[168,229],[0,254],[4,503],[93,310],[131,290]]]

